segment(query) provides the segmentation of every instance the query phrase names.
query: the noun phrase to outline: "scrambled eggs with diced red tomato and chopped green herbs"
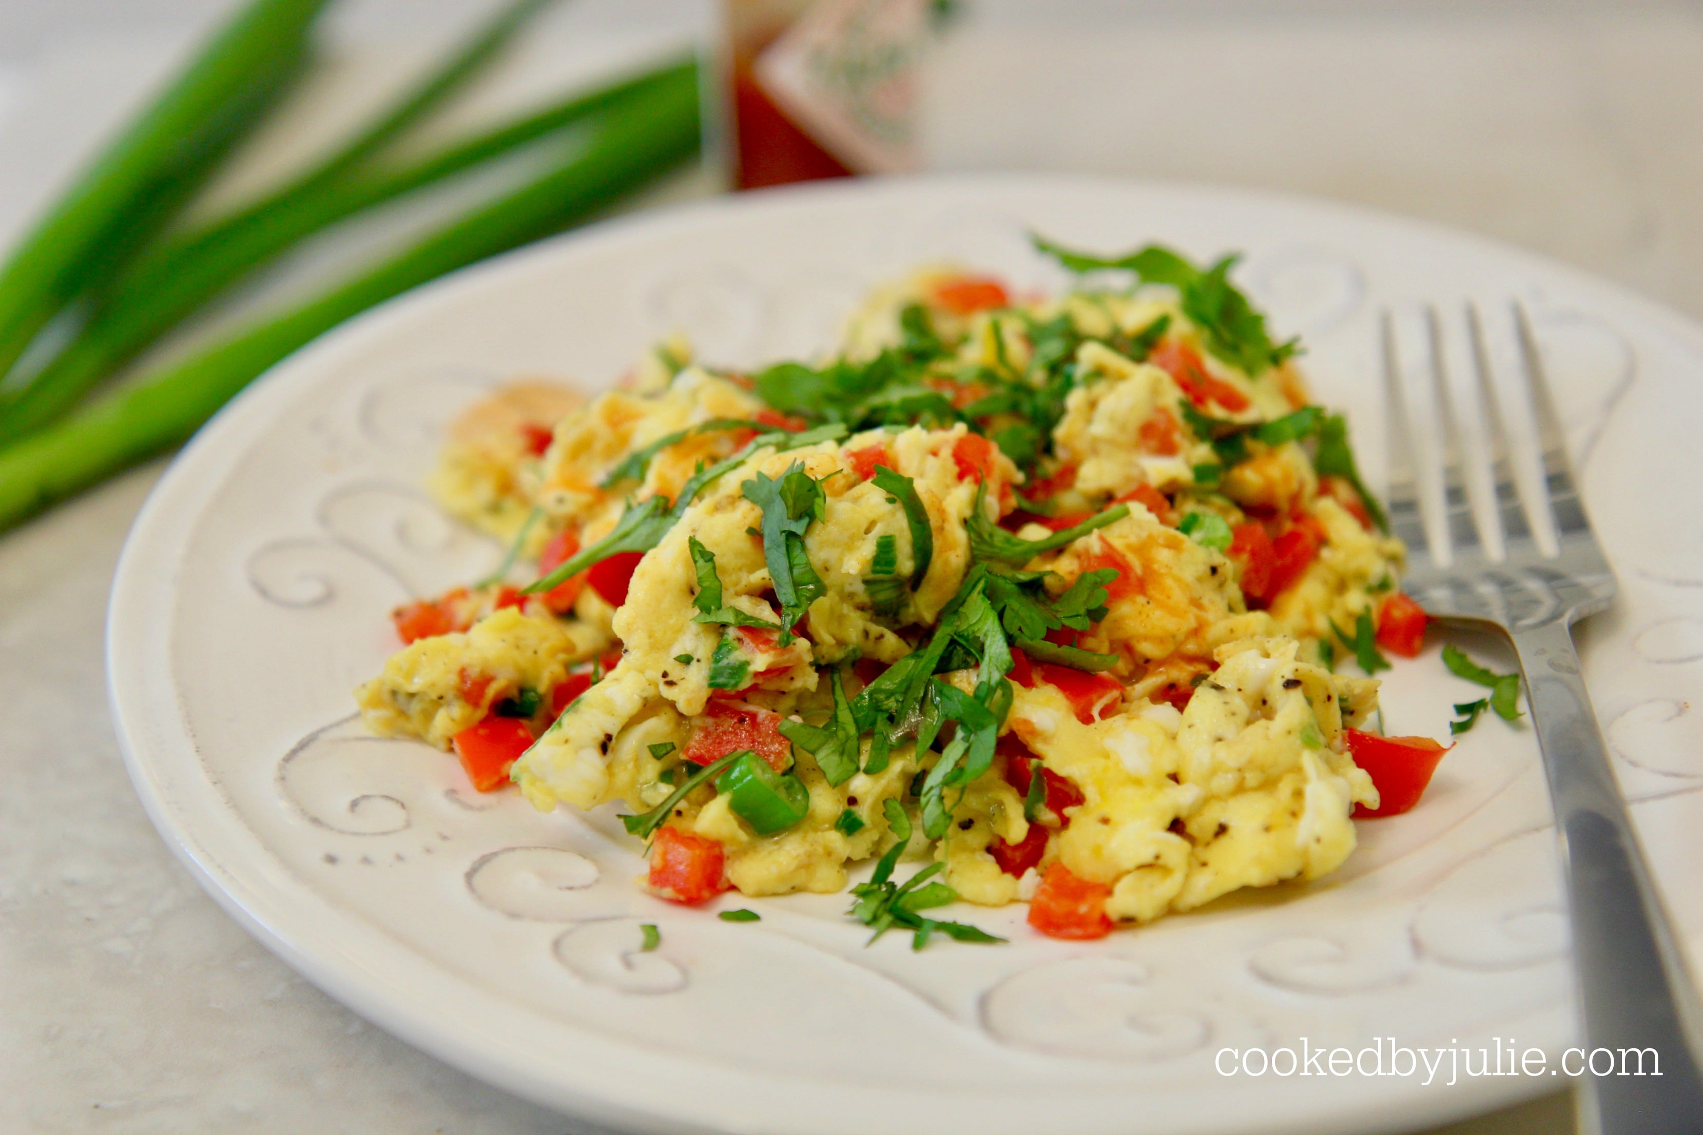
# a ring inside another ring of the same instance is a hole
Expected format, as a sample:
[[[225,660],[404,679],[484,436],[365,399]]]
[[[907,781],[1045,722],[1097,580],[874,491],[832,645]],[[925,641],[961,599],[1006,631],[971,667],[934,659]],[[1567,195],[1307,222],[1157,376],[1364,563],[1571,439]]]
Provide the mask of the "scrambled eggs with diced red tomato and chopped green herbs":
[[[538,568],[399,609],[368,725],[623,801],[681,902],[880,856],[853,914],[918,943],[986,938],[952,898],[1092,938],[1335,870],[1379,803],[1345,744],[1378,682],[1335,662],[1402,546],[1226,264],[1054,252],[1136,279],[926,271],[824,361],[669,342],[586,405],[475,407],[431,487]]]

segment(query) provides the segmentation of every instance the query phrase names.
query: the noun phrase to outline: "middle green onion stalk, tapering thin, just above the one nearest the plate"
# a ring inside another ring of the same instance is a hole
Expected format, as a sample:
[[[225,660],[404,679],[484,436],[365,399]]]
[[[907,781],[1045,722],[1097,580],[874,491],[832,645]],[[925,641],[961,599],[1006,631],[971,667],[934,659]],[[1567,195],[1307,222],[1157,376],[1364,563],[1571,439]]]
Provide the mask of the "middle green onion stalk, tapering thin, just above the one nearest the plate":
[[[199,235],[162,242],[119,277],[70,345],[26,383],[0,390],[0,442],[60,419],[100,379],[303,238],[618,107],[637,94],[695,82],[695,73],[691,61],[673,63],[576,94],[404,165],[363,167],[335,179],[315,175],[310,191],[281,196],[266,209],[245,209]]]

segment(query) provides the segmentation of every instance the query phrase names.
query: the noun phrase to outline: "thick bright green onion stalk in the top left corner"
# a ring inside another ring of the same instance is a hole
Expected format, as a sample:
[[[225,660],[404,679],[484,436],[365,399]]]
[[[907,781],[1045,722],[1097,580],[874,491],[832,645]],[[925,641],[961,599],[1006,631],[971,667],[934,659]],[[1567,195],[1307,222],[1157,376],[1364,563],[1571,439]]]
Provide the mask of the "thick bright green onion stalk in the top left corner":
[[[325,0],[254,0],[83,170],[0,265],[0,374],[124,264],[300,77]]]

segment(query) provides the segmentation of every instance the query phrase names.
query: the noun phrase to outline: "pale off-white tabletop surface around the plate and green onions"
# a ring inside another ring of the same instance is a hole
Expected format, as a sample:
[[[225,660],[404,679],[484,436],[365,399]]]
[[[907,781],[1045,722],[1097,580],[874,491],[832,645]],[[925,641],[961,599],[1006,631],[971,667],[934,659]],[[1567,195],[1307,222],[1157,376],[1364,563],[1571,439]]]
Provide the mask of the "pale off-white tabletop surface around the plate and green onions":
[[[230,0],[0,0],[0,242]],[[465,24],[361,0],[264,180]],[[933,75],[945,168],[1221,180],[1500,237],[1703,315],[1703,12],[1681,3],[989,3]],[[477,106],[690,34],[686,3],[552,17]],[[477,112],[477,107],[475,111]],[[472,112],[470,112],[472,114]],[[683,177],[651,201],[705,191]],[[381,240],[375,237],[373,240]],[[307,286],[310,255],[247,305]],[[226,919],[124,776],[106,596],[153,465],[0,538],[0,1132],[582,1132],[368,1026]],[[1451,1135],[1572,1132],[1565,1096]]]

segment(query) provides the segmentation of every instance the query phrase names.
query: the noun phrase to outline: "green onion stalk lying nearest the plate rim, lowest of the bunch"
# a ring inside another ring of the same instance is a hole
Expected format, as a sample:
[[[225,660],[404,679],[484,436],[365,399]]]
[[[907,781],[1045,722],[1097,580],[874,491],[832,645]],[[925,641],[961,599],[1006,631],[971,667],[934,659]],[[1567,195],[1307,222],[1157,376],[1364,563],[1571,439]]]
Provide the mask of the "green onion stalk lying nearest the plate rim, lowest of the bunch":
[[[591,141],[320,299],[102,395],[0,449],[0,528],[187,439],[257,374],[337,323],[444,272],[584,220],[698,150],[697,82],[681,75],[610,109]]]

